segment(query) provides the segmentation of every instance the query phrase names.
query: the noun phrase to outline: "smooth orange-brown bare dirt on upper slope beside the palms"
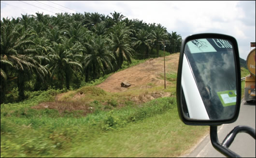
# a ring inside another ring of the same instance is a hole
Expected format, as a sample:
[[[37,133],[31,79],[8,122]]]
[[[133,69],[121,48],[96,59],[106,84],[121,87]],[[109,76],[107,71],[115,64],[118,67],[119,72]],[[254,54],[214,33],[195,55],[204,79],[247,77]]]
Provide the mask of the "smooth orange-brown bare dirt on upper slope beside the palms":
[[[166,73],[177,73],[179,55],[180,53],[175,53],[165,57]],[[146,88],[149,84],[164,86],[164,80],[160,77],[163,74],[164,58],[159,57],[114,73],[97,87],[108,92],[120,92],[127,90],[121,87],[121,82],[131,84],[129,88]],[[169,83],[166,81],[166,84]]]

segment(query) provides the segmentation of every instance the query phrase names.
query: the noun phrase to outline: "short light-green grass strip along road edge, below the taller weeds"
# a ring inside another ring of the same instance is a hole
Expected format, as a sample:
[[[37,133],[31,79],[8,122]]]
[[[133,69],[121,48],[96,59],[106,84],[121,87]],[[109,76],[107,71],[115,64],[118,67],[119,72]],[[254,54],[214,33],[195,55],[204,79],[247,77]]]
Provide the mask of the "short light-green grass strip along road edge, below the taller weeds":
[[[207,131],[202,126],[186,126],[179,120],[176,109],[169,109],[164,114],[103,133],[62,156],[178,157]]]

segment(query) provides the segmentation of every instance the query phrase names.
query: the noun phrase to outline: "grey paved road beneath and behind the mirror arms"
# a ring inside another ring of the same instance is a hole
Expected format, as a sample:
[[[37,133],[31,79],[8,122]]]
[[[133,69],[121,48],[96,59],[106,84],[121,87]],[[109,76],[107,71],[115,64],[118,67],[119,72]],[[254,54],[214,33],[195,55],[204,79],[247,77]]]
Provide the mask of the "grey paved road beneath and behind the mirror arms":
[[[242,100],[240,114],[238,120],[234,123],[223,124],[218,126],[219,142],[222,142],[226,135],[238,125],[246,125],[255,129],[256,115],[255,104],[247,104]],[[249,134],[239,133],[229,147],[232,151],[241,157],[255,158],[256,157],[256,141]],[[203,141],[189,154],[188,158],[225,158],[224,155],[215,150],[208,134]]]

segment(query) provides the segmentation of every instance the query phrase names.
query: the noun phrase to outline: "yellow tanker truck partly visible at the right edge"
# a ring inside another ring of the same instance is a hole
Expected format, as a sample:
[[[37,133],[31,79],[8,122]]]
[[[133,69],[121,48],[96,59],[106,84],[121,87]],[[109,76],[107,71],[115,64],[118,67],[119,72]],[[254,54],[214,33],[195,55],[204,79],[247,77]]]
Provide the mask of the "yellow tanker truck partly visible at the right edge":
[[[251,47],[255,47],[255,42],[251,43]],[[244,86],[244,100],[246,102],[255,102],[255,49],[251,50],[247,56],[246,64],[250,72],[248,76],[245,77]]]

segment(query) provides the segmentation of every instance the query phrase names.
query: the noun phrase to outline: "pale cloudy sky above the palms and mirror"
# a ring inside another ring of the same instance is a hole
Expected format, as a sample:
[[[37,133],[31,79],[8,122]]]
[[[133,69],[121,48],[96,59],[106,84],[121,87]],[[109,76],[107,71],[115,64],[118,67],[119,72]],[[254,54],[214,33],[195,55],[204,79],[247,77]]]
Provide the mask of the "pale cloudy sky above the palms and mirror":
[[[120,12],[128,19],[162,24],[184,39],[197,33],[221,33],[234,36],[239,53],[246,60],[250,42],[256,41],[256,2],[253,1],[90,1],[90,0],[1,0],[2,18],[21,14],[98,12],[110,15]],[[111,15],[110,15],[111,16]]]

